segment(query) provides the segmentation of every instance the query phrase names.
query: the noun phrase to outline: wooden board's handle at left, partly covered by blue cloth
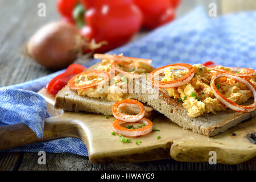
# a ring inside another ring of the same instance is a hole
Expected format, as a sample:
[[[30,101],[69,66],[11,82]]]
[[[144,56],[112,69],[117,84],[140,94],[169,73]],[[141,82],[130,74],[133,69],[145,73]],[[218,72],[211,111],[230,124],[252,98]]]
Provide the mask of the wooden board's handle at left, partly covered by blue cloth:
[[[34,131],[23,123],[0,127],[0,150],[24,146],[46,140],[77,137],[75,123],[63,121],[58,117],[47,118],[44,122],[43,138],[38,138]]]

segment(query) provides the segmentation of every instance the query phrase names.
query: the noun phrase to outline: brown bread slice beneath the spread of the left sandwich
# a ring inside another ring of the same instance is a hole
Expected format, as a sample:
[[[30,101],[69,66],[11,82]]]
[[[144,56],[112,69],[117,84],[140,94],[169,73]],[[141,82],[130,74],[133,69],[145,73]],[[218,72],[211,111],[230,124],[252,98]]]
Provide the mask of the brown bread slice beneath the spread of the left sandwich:
[[[104,115],[113,115],[112,106],[115,101],[109,101],[102,98],[92,98],[79,96],[75,91],[72,91],[65,86],[57,93],[55,97],[55,109],[63,109],[66,111],[86,111],[89,113],[99,113]],[[155,115],[152,107],[145,105],[145,118],[152,119]],[[138,114],[139,107],[121,107],[120,110],[125,114]]]

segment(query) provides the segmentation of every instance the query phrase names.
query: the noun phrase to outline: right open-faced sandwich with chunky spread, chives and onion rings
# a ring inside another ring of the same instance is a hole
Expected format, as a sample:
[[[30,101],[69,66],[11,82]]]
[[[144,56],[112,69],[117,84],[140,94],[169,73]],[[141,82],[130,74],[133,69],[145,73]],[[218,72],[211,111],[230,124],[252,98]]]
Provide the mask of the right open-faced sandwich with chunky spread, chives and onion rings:
[[[171,64],[137,80],[146,92],[133,98],[184,129],[211,137],[256,115],[255,80],[253,69]]]

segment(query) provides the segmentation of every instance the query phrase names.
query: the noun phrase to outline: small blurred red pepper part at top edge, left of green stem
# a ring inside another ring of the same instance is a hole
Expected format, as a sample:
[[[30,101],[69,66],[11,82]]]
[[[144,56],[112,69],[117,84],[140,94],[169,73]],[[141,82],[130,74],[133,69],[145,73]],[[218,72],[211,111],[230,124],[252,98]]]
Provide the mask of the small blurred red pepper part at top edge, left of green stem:
[[[59,13],[67,18],[72,18],[73,10],[79,0],[57,0],[57,9]]]

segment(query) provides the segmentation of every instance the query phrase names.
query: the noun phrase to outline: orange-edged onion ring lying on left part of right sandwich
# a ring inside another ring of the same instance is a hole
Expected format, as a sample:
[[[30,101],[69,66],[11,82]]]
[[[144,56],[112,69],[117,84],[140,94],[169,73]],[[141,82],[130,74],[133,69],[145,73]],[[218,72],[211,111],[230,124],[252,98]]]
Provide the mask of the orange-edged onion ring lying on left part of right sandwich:
[[[188,74],[185,75],[184,77],[181,77],[173,81],[158,81],[154,79],[157,75],[159,75],[160,73],[163,73],[164,71],[166,71],[166,69],[170,67],[175,67],[175,69],[187,69]],[[186,64],[186,63],[175,63],[175,64],[169,64],[164,67],[155,69],[148,76],[148,80],[151,82],[152,85],[158,88],[175,88],[191,81],[194,75],[195,75],[195,68],[192,65]]]

